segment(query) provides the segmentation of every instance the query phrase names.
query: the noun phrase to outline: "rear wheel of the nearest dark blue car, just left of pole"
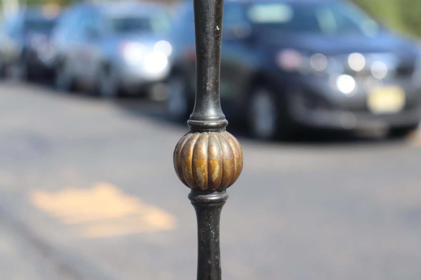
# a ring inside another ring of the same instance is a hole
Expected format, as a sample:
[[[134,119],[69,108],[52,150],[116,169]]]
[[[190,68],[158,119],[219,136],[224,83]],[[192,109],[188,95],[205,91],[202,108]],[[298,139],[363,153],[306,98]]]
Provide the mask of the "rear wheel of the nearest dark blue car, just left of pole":
[[[184,77],[180,74],[168,78],[165,111],[169,119],[181,120],[189,114],[189,98]]]

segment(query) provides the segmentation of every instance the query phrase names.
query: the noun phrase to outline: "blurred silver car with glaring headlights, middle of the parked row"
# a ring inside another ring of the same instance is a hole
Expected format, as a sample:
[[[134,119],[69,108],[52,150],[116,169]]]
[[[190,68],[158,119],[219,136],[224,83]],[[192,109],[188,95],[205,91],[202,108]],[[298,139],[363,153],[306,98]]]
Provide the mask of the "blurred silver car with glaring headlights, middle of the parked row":
[[[53,31],[56,86],[96,89],[114,97],[139,93],[169,73],[170,24],[157,3],[78,3]]]

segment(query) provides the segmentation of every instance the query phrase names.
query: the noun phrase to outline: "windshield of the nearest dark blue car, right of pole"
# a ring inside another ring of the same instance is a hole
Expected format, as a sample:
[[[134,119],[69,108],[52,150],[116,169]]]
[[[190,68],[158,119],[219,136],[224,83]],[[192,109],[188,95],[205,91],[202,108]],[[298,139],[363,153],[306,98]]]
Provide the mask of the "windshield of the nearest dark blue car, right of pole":
[[[247,15],[255,24],[284,32],[358,32],[373,36],[379,29],[376,21],[348,3],[258,3],[248,8]]]

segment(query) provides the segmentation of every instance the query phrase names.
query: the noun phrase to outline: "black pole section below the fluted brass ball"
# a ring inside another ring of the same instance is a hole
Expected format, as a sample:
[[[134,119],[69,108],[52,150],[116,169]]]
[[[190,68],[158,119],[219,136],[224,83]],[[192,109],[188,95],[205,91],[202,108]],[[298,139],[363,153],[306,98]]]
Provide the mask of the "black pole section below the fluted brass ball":
[[[189,199],[197,217],[197,280],[222,280],[219,220],[228,193],[192,190]]]

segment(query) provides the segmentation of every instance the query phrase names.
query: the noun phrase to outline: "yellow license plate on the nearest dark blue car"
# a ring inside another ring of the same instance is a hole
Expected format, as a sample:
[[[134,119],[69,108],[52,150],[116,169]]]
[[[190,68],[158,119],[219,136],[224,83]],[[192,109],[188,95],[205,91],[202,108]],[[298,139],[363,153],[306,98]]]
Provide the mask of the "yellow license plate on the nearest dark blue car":
[[[405,90],[399,86],[378,87],[368,93],[367,106],[373,114],[397,113],[405,107]]]

